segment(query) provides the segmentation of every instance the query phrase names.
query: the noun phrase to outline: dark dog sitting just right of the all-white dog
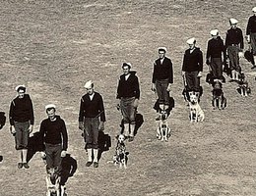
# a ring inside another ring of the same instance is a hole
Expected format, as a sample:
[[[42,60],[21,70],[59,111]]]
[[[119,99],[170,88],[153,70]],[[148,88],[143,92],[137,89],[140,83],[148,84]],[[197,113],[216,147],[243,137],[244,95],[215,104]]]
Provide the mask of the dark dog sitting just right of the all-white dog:
[[[219,79],[215,79],[213,81],[213,100],[212,105],[214,107],[214,110],[224,110],[226,107],[226,98],[224,97],[224,91],[223,91],[223,83]]]

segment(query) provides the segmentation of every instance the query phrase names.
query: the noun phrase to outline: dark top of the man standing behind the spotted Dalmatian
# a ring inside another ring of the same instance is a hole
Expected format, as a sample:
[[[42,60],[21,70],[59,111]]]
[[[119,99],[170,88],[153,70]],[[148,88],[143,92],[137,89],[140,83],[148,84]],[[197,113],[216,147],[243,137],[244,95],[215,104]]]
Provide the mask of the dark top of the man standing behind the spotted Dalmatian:
[[[121,74],[117,86],[117,99],[135,97],[140,99],[139,79],[136,72],[130,72],[130,76],[125,80],[125,74]]]

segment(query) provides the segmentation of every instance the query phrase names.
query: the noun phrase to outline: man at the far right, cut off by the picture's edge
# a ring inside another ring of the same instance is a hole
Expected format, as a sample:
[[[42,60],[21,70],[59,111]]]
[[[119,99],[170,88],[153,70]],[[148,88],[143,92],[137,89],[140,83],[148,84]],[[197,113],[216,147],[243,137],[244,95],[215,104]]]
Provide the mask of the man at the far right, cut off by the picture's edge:
[[[256,7],[252,9],[253,16],[251,16],[248,20],[247,28],[246,28],[246,35],[247,41],[251,44],[252,54],[253,54],[253,67],[252,69],[256,68]]]

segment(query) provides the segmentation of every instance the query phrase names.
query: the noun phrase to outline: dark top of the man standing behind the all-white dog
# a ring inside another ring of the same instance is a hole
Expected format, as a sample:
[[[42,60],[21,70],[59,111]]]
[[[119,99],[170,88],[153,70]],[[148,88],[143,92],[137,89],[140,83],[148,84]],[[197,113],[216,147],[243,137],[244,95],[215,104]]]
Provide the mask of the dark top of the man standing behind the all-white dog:
[[[203,72],[203,53],[200,48],[195,48],[192,53],[190,49],[185,51],[183,57],[183,72]]]

